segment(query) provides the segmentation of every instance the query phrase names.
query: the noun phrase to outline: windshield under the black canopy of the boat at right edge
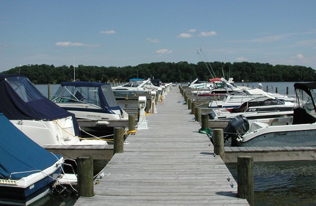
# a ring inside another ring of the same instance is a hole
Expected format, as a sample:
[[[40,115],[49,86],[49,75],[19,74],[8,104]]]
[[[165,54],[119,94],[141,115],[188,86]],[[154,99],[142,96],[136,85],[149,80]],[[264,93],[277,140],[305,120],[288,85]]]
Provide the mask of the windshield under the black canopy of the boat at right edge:
[[[316,117],[315,101],[316,101],[316,89],[310,90],[312,96],[308,95],[304,90],[296,89],[297,107],[303,108],[306,113]]]

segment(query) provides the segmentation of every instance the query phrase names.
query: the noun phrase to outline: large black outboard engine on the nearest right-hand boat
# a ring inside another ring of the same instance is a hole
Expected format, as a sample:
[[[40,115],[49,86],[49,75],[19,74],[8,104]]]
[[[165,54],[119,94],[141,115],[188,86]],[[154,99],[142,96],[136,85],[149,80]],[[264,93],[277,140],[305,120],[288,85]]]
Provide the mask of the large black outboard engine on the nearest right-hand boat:
[[[224,129],[224,140],[230,137],[243,136],[249,130],[249,122],[243,115],[232,118]]]

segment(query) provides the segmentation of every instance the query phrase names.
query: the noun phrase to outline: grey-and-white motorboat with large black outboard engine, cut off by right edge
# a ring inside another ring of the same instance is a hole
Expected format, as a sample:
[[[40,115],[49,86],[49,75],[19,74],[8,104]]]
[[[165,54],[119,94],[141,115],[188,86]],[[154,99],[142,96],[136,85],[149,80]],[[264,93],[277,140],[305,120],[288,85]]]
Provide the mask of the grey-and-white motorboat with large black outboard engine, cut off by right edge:
[[[236,116],[224,130],[236,146],[316,146],[316,82],[295,83],[293,116],[248,120]]]

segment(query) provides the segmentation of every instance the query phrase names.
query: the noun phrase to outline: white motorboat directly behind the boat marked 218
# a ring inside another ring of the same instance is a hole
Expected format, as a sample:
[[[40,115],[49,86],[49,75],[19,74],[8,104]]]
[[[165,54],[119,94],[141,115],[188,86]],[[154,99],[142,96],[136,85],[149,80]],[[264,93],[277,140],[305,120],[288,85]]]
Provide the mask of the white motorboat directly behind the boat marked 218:
[[[244,89],[228,94],[223,100],[210,100],[208,108],[232,108],[239,107],[242,103],[248,102],[258,97],[278,98],[281,101],[295,102],[295,99],[286,95],[265,92],[262,89]]]

